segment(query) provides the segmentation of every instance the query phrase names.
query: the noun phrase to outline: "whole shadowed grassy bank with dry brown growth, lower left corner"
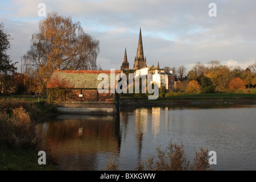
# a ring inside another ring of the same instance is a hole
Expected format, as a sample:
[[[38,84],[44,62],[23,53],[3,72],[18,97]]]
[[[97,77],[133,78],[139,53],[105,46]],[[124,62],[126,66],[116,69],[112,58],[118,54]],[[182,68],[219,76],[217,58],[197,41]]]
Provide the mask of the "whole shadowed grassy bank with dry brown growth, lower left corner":
[[[35,122],[55,112],[55,107],[45,102],[2,99],[0,111],[0,170],[54,170],[55,160],[49,155],[47,165],[38,164],[38,152],[49,151],[36,134]]]

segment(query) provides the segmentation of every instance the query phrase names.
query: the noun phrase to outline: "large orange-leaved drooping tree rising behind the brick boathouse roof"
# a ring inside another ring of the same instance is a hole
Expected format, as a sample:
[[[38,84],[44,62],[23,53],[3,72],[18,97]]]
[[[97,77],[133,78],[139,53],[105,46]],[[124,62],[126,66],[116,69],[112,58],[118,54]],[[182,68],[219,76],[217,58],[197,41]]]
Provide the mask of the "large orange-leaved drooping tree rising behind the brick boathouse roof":
[[[99,41],[86,34],[71,17],[48,14],[23,56],[24,76],[31,92],[41,93],[54,70],[98,69]]]

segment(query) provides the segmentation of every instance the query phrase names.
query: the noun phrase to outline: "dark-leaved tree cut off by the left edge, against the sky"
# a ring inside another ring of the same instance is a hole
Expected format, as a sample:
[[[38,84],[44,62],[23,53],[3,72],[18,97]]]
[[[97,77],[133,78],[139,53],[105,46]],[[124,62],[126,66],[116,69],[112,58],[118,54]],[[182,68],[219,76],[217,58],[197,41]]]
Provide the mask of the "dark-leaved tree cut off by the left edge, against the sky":
[[[0,24],[0,73],[10,74],[15,73],[16,63],[11,63],[10,56],[6,51],[10,49],[10,34],[3,30],[3,23]]]

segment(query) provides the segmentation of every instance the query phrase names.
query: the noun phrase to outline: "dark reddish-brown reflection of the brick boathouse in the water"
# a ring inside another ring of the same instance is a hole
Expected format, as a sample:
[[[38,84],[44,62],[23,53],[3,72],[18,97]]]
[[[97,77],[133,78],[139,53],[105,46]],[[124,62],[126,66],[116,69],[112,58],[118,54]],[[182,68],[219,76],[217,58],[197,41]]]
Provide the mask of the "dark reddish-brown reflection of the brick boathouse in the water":
[[[65,170],[92,170],[100,164],[100,155],[119,152],[119,118],[88,115],[57,115],[38,125],[39,134],[47,138],[52,155]]]

